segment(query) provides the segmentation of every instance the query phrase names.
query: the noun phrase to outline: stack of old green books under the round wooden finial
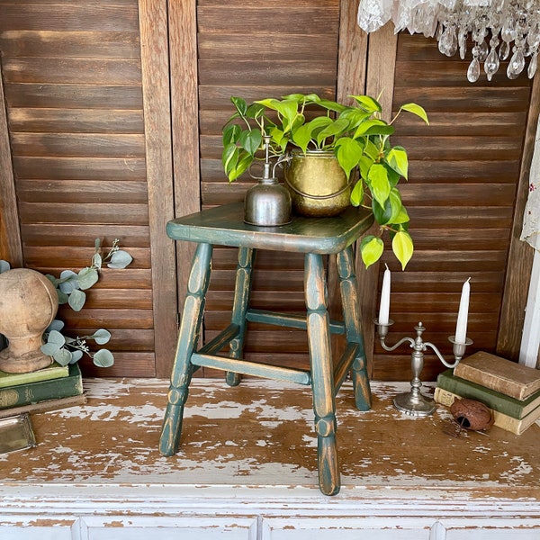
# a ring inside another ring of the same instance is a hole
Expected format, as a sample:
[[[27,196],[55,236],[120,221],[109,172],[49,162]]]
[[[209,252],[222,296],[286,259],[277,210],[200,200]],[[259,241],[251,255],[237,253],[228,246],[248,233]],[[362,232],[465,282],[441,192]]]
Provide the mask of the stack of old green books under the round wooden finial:
[[[0,419],[82,405],[86,401],[78,364],[56,363],[29,374],[0,371]]]

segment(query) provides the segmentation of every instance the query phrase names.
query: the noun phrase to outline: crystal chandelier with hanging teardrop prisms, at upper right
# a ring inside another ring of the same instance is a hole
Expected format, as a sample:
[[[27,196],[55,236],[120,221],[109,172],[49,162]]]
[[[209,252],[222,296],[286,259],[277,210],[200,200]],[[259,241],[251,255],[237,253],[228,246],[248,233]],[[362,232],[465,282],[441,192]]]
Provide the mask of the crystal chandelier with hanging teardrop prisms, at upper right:
[[[533,78],[540,46],[540,0],[360,0],[358,24],[376,31],[392,20],[395,31],[435,36],[446,56],[459,50],[465,58],[469,35],[473,59],[467,70],[478,80],[481,64],[489,81],[500,60],[509,59],[507,76],[515,79],[526,68]],[[511,55],[511,56],[510,56]]]

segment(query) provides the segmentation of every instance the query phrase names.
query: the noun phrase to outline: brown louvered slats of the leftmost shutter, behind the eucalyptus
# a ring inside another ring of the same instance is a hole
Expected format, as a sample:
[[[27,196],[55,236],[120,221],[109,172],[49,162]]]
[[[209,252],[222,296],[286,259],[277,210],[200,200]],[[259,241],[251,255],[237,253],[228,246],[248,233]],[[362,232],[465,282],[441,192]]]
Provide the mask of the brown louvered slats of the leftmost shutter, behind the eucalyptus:
[[[134,257],[129,270],[110,277],[103,269],[85,310],[62,308],[62,319],[67,335],[130,329],[130,339],[111,345],[113,373],[154,376],[138,4],[38,0],[0,9],[21,263],[59,275],[89,265],[94,238],[105,248],[120,238]],[[84,370],[95,373],[91,362]]]

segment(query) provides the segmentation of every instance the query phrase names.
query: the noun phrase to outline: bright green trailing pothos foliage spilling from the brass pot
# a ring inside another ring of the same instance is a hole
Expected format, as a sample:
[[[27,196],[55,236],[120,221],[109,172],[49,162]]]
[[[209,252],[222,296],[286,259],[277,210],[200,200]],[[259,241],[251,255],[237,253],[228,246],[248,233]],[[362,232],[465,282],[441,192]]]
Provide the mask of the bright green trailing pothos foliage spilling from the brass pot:
[[[401,178],[408,178],[409,161],[405,148],[390,143],[392,124],[403,111],[426,123],[428,115],[420,105],[406,103],[387,122],[382,119],[381,104],[373,97],[349,97],[354,105],[317,94],[290,94],[249,104],[240,97],[231,97],[236,112],[222,130],[223,168],[229,182],[236,180],[259,158],[263,135],[270,137],[271,157],[283,156],[290,148],[299,148],[304,154],[310,150],[333,152],[347,178],[358,171],[351,204],[371,209],[380,225],[379,235],[367,235],[361,242],[365,266],[373,265],[383,255],[381,236],[387,231],[392,251],[404,269],[414,245],[398,184]]]

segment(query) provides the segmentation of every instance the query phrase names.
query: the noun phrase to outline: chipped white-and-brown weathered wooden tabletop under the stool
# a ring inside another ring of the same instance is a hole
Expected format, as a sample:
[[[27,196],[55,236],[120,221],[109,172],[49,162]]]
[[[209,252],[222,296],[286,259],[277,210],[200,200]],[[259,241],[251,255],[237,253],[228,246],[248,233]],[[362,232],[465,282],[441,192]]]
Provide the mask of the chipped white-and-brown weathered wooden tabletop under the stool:
[[[342,491],[437,489],[471,496],[540,500],[540,426],[515,436],[449,437],[440,408],[411,419],[392,407],[402,383],[374,383],[374,409],[354,409],[352,387],[338,394]],[[32,416],[38,446],[0,455],[0,486],[171,484],[304,487],[317,491],[311,392],[249,380],[229,388],[194,380],[180,452],[157,451],[166,381],[89,380],[83,407]]]

